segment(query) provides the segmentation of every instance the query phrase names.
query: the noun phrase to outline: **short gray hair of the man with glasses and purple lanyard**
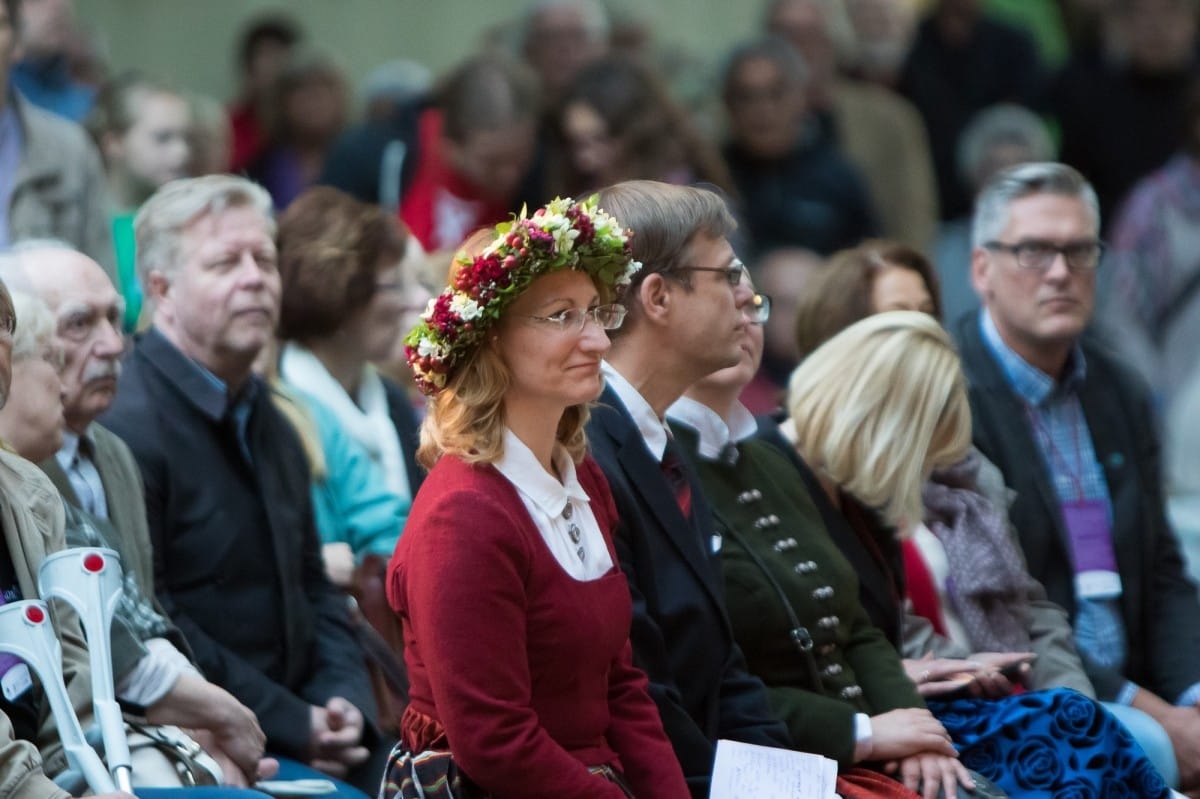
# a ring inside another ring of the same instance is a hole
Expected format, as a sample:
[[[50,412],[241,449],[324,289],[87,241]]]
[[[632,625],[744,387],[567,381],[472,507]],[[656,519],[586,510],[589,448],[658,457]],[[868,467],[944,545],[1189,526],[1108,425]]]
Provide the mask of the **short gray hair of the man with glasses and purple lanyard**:
[[[1033,194],[1062,194],[1082,200],[1092,224],[1100,229],[1100,202],[1084,175],[1054,161],[1022,163],[1001,169],[979,192],[971,222],[971,246],[982,247],[995,240],[1008,224],[1009,206]]]

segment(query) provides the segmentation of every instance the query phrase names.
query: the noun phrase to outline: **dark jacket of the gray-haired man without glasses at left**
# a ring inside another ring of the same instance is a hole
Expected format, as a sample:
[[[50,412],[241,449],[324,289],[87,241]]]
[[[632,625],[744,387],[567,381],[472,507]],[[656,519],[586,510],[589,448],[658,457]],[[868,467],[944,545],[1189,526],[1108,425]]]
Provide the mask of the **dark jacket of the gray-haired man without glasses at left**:
[[[346,600],[325,578],[300,443],[257,378],[247,462],[226,397],[151,329],[103,423],[145,483],[155,585],[205,675],[246,704],[268,749],[304,759],[310,705],[374,701]]]

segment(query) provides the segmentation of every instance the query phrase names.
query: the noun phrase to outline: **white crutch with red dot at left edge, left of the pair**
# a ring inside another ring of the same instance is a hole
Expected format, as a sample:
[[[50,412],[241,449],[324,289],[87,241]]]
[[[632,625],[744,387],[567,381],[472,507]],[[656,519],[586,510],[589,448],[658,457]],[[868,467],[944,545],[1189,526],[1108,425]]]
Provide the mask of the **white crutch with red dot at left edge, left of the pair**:
[[[71,707],[62,680],[62,644],[54,635],[44,602],[22,600],[0,607],[0,651],[20,657],[37,674],[71,767],[83,774],[95,793],[115,791],[113,777],[84,739],[79,719]]]

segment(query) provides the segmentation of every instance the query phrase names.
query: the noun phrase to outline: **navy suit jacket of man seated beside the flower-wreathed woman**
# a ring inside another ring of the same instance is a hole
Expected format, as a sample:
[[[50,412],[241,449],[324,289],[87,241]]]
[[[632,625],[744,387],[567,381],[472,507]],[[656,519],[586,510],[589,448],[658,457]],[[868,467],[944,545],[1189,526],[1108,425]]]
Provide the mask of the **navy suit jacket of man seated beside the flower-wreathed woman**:
[[[710,546],[712,511],[695,475],[696,528],[611,389],[592,410],[588,440],[620,517],[614,543],[634,596],[634,662],[650,679],[662,726],[700,799],[708,795],[719,738],[787,747],[787,729],[734,643]]]

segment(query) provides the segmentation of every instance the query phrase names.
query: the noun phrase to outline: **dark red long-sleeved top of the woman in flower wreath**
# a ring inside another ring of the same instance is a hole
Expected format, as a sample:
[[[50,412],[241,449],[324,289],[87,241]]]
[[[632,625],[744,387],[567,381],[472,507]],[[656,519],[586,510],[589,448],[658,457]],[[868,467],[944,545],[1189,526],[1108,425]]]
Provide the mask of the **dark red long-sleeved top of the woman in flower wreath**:
[[[617,563],[608,485],[590,458],[578,477]],[[587,770],[601,764],[638,799],[690,795],[631,662],[620,570],[570,577],[494,468],[438,461],[389,565],[388,600],[403,621],[412,708],[443,725],[455,761],[497,799],[619,799]]]

